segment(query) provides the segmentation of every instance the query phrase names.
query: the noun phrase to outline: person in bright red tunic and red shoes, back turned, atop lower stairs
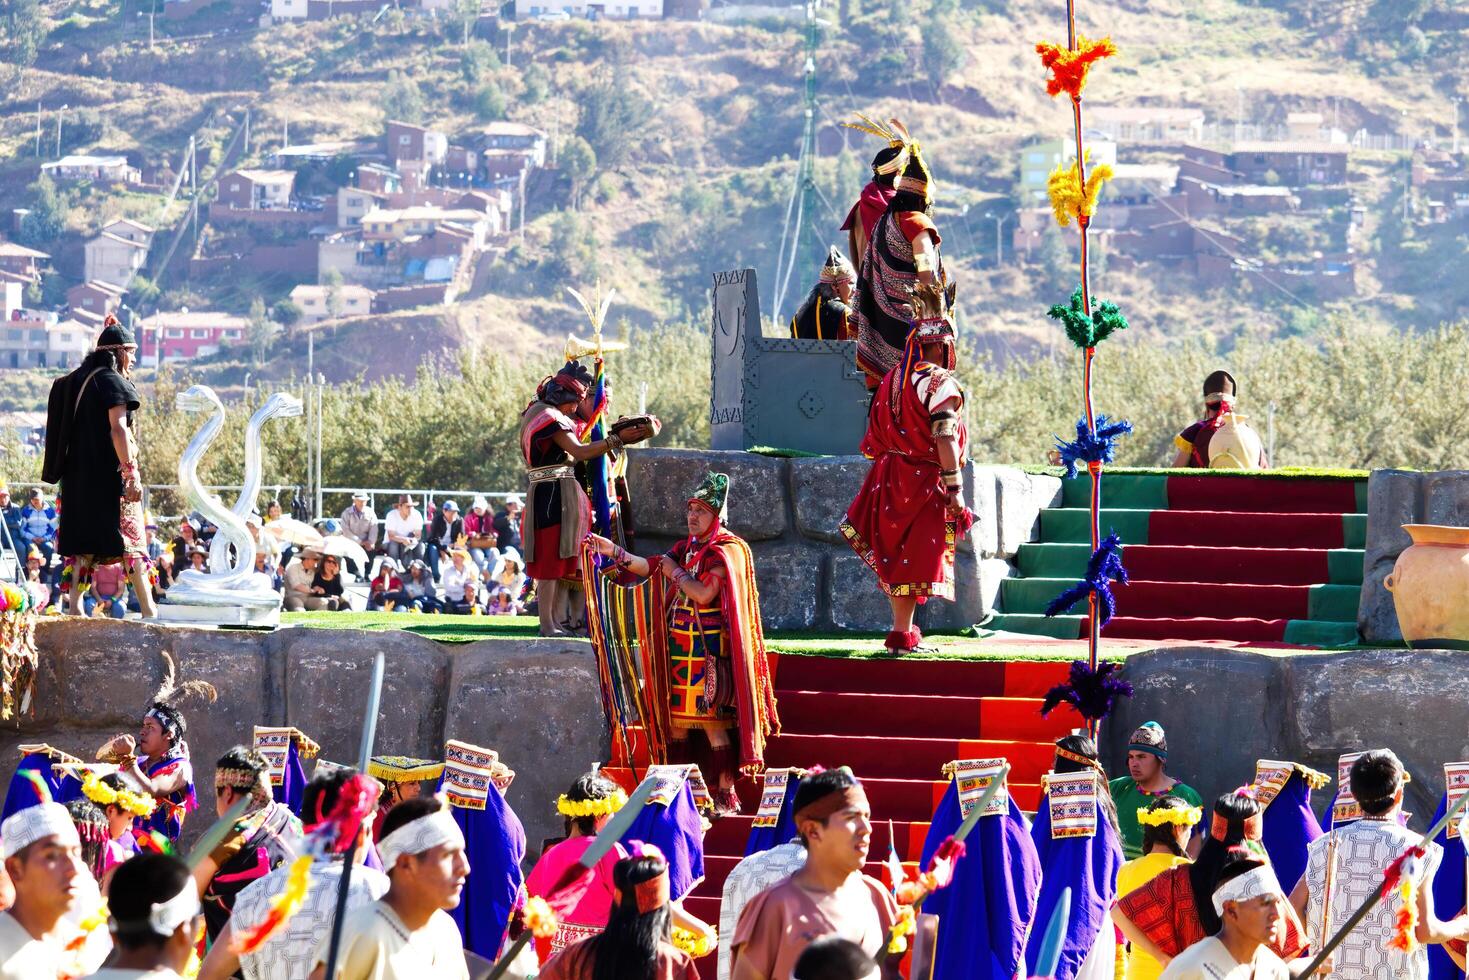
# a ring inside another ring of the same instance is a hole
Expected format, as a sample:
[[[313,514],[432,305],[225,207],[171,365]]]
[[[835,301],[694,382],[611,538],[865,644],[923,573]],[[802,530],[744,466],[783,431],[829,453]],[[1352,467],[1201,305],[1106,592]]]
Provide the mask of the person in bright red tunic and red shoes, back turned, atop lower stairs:
[[[842,522],[893,607],[886,646],[895,654],[920,649],[920,602],[953,599],[955,541],[974,523],[964,505],[968,430],[943,289],[918,287],[908,303],[914,328],[903,361],[883,378],[867,413],[862,455],[873,467]]]

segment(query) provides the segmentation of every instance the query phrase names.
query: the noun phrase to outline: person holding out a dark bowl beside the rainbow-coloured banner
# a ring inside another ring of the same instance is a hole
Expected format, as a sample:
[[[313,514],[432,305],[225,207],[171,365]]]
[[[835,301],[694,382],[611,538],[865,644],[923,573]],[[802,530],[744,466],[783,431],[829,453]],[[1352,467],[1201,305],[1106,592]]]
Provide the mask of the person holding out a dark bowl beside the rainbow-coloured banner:
[[[536,580],[536,610],[542,636],[563,636],[570,616],[558,616],[567,580],[580,580],[582,539],[592,526],[592,504],[577,475],[577,464],[617,453],[623,445],[657,435],[658,423],[617,428],[607,438],[583,442],[596,413],[592,372],[567,361],[536,388],[535,400],[520,416],[520,453],[526,460],[529,505],[521,536],[526,573]],[[566,595],[570,595],[567,591]],[[457,597],[447,597],[457,598]]]

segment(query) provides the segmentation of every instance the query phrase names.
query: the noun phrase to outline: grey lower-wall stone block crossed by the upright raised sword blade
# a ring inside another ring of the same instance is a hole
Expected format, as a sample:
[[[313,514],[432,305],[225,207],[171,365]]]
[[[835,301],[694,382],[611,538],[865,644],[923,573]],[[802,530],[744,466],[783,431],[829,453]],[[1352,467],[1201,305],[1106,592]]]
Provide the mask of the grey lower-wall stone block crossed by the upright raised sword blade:
[[[448,648],[414,633],[286,629],[276,638],[285,658],[285,718],[316,739],[325,758],[355,764],[379,649],[386,663],[373,754],[441,757]]]

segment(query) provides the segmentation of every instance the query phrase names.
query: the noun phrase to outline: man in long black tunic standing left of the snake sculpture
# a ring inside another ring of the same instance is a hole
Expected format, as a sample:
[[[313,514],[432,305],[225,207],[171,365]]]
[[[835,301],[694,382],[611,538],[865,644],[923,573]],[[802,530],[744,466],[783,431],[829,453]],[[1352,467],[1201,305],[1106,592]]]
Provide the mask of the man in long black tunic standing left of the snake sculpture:
[[[142,482],[132,413],[141,401],[128,375],[138,354],[132,331],[107,317],[97,348],[68,376],[71,417],[47,439],[60,439],[63,513],[57,551],[73,560],[71,610],[81,610],[91,569],[122,561],[144,619],[157,616],[148,583]]]

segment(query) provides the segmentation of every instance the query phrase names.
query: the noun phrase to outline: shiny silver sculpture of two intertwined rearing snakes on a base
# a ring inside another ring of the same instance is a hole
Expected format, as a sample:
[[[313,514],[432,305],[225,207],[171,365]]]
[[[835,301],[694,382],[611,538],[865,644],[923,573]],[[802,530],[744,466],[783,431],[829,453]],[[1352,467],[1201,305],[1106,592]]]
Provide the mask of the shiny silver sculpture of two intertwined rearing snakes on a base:
[[[270,588],[270,577],[256,572],[256,539],[250,536],[245,517],[260,492],[260,429],[270,419],[301,414],[301,400],[278,392],[270,395],[245,429],[245,483],[232,508],[204,489],[198,480],[198,461],[225,428],[225,406],[207,385],[192,385],[178,394],[175,407],[182,411],[209,411],[188,448],[179,457],[179,485],[190,507],[219,527],[210,545],[212,572],[184,569],[167,591],[166,602],[173,605],[237,605],[248,608],[281,608],[281,594]],[[234,561],[229,560],[234,550]]]

